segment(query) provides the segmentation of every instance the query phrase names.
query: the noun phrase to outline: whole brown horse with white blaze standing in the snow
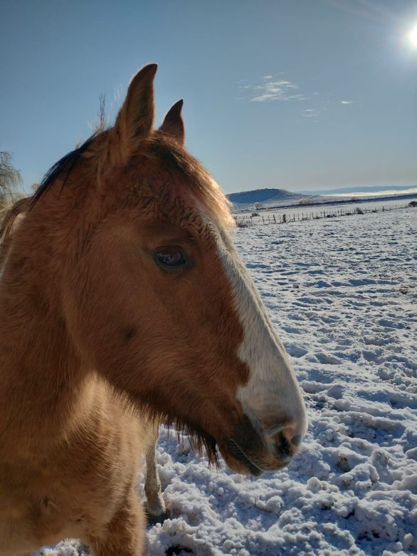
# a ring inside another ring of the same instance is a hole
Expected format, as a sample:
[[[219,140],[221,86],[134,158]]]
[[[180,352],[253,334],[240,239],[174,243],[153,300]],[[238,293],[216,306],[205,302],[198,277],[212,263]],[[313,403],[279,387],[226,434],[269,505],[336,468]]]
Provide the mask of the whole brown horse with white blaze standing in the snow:
[[[1,556],[63,537],[141,555],[137,470],[143,452],[154,465],[159,423],[254,476],[305,435],[230,204],[184,147],[182,101],[154,128],[156,71],[132,78],[115,124],[53,165],[4,230]]]

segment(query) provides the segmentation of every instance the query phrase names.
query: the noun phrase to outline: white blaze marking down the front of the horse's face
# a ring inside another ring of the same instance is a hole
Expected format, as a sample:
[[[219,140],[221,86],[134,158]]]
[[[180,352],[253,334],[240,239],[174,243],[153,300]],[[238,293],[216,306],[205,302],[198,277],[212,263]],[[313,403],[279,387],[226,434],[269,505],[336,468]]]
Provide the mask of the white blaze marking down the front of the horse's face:
[[[282,341],[231,238],[221,234],[218,252],[231,282],[243,327],[238,357],[250,371],[249,381],[238,388],[238,400],[255,428],[273,436],[277,426],[294,426],[305,434],[306,417],[300,387]],[[275,430],[274,430],[275,429]]]

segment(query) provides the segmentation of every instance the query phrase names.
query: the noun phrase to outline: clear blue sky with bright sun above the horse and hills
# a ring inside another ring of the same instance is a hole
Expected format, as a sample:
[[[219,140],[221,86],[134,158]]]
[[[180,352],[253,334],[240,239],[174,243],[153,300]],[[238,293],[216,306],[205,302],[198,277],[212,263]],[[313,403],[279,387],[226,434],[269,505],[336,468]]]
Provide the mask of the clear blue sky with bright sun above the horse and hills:
[[[157,125],[228,192],[417,184],[417,0],[0,0],[0,150],[24,187],[157,62]]]

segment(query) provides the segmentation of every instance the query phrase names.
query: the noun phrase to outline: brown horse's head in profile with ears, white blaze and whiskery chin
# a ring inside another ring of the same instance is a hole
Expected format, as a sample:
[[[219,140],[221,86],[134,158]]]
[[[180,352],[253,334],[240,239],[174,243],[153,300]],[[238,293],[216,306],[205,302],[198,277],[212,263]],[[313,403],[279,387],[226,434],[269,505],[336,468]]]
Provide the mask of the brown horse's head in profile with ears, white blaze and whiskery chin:
[[[218,448],[259,475],[300,448],[300,388],[233,245],[229,203],[184,148],[182,101],[154,129],[156,70],[134,76],[112,128],[53,168],[28,220],[60,261],[51,291],[80,358],[211,460]]]

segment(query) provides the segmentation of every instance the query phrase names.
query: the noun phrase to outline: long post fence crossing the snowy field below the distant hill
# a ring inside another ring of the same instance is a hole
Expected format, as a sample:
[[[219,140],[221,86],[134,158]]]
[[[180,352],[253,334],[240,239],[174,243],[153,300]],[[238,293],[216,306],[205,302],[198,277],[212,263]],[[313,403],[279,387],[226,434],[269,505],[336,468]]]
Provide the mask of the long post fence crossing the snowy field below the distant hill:
[[[321,210],[320,212],[314,211],[299,211],[297,213],[283,213],[283,214],[266,214],[259,215],[258,212],[252,215],[235,215],[234,219],[238,227],[248,227],[256,224],[287,224],[287,222],[305,222],[306,220],[320,220],[320,218],[336,218],[351,215],[364,215],[368,212],[387,212],[389,210],[396,210],[407,208],[408,205],[389,205],[374,208],[356,207],[356,208],[339,208],[333,210]]]

